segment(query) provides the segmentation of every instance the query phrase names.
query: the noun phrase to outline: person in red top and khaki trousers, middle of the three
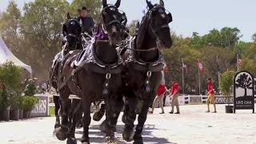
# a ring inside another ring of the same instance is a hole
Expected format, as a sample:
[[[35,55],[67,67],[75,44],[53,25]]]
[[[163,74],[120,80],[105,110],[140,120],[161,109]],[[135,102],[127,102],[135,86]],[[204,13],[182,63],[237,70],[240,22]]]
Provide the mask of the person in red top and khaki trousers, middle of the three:
[[[171,81],[170,94],[171,94],[170,98],[172,98],[170,114],[174,114],[174,106],[176,106],[176,109],[177,109],[177,113],[175,113],[175,114],[180,114],[179,106],[178,106],[179,86],[178,86],[178,83],[175,82],[174,79]]]

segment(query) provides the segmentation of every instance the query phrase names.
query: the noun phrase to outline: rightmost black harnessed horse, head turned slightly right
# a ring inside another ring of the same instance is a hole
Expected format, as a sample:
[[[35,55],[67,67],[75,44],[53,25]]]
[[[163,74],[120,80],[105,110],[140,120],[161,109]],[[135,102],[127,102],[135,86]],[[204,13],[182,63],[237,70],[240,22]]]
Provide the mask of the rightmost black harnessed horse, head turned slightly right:
[[[143,143],[143,126],[162,78],[163,60],[158,48],[172,46],[169,27],[172,16],[166,11],[164,2],[160,0],[160,4],[155,5],[146,2],[149,11],[142,18],[131,48],[122,55],[126,62],[122,71],[122,94],[126,98],[122,116],[125,128],[122,136],[128,142],[134,139],[136,144]],[[142,102],[142,109],[138,114],[138,125],[134,133],[138,101]]]

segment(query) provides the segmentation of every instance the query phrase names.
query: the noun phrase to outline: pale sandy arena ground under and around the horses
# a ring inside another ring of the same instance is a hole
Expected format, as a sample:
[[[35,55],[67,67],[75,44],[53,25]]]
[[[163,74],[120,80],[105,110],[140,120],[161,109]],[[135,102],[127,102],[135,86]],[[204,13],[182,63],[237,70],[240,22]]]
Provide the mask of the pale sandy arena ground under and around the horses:
[[[165,107],[166,113],[170,107]],[[226,114],[224,105],[218,105],[218,114],[206,114],[206,106],[181,106],[182,114],[150,114],[146,122],[144,142],[163,143],[242,143],[256,144],[256,114],[252,110],[237,110],[237,114]],[[90,142],[103,143],[103,134],[98,130],[100,122],[90,126]],[[0,144],[64,144],[54,138],[54,117],[34,118],[18,122],[0,122]],[[117,134],[122,141],[121,120]],[[77,130],[77,138],[82,137],[82,129]],[[78,142],[80,143],[80,142]],[[131,143],[131,142],[130,142]]]

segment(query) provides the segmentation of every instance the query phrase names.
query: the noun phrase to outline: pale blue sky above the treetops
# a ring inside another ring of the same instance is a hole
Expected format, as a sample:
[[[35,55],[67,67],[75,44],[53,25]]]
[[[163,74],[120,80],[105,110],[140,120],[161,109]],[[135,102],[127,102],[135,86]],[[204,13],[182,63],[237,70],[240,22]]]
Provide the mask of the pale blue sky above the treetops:
[[[0,10],[5,10],[9,0],[0,0]],[[33,0],[16,0],[22,7],[24,2]],[[68,0],[71,2],[72,0]],[[159,2],[159,0],[151,0]],[[164,0],[166,9],[173,14],[174,22],[170,27],[176,34],[191,36],[194,31],[206,34],[213,28],[224,26],[238,27],[242,40],[251,41],[256,33],[255,0]],[[114,3],[115,0],[108,2]],[[126,12],[129,22],[142,18],[146,9],[146,0],[122,0],[121,10]]]

